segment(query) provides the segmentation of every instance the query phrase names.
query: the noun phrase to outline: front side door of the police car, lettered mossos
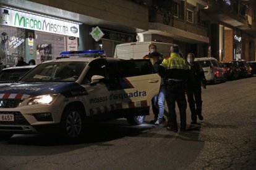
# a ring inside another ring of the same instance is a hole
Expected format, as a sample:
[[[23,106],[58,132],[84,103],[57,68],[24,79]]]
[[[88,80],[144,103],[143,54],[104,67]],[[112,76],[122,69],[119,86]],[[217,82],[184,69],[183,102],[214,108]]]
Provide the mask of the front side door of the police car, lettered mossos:
[[[87,116],[106,116],[111,110],[113,102],[109,101],[109,90],[106,87],[106,60],[95,59],[88,64],[90,66],[85,78],[83,78],[82,86],[88,92],[85,100]],[[92,83],[95,76],[102,76],[98,82]]]

